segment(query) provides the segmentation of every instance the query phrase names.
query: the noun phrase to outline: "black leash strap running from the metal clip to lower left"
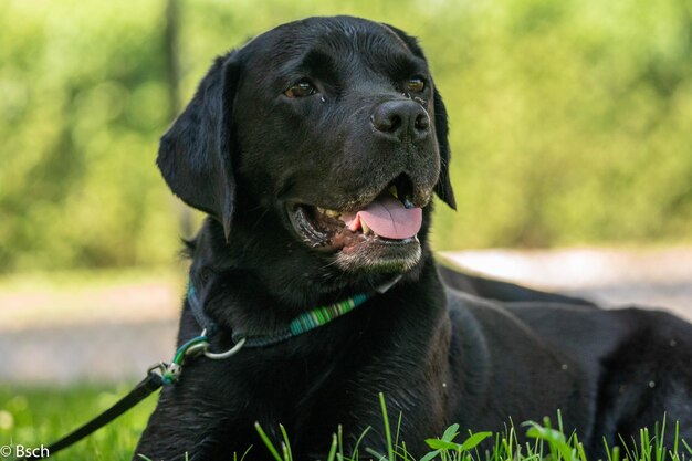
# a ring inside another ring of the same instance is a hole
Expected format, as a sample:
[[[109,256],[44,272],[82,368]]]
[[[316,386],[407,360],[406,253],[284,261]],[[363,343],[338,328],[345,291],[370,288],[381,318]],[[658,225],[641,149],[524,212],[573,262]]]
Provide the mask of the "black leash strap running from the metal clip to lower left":
[[[129,391],[128,395],[118,400],[113,407],[108,408],[103,413],[98,415],[96,418],[92,419],[84,426],[78,429],[75,429],[73,432],[63,437],[50,444],[46,449],[49,457],[53,457],[56,452],[78,442],[87,436],[96,432],[102,427],[106,426],[108,422],[113,421],[135,405],[139,404],[145,398],[149,397],[151,392],[158,390],[164,385],[164,380],[160,375],[149,371],[146,378],[144,378],[133,390]],[[28,459],[36,459],[36,458],[18,458],[17,461],[23,461]]]

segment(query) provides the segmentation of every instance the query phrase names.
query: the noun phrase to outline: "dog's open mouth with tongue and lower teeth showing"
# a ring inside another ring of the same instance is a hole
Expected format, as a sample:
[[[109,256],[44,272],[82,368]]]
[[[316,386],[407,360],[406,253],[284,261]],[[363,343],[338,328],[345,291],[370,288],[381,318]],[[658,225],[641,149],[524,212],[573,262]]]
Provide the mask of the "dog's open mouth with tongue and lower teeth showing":
[[[355,252],[371,245],[418,245],[422,209],[410,198],[410,181],[397,178],[374,200],[355,208],[333,210],[312,205],[287,207],[303,241],[325,252]]]

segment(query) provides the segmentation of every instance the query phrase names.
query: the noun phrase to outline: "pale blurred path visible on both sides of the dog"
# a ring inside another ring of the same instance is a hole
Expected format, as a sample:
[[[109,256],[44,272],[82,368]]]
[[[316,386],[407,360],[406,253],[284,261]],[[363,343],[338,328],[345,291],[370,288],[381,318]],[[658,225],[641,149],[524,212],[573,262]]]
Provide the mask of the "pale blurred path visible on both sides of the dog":
[[[443,258],[493,276],[692,321],[692,249],[475,251]],[[184,283],[0,290],[0,384],[136,380],[170,359]],[[59,307],[56,307],[59,306]]]

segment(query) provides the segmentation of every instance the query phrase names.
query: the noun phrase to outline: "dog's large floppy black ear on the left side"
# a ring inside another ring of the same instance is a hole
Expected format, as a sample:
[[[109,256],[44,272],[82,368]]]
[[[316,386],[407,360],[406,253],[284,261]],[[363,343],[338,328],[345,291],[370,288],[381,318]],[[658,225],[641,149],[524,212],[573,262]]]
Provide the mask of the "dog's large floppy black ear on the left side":
[[[235,202],[231,138],[240,65],[217,57],[192,101],[161,137],[156,163],[170,190],[223,224],[228,240]]]

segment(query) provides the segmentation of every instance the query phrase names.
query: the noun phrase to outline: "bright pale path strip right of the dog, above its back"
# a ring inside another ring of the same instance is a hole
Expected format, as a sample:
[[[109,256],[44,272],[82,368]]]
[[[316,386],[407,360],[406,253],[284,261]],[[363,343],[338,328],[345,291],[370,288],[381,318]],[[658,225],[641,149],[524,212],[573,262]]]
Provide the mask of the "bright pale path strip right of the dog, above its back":
[[[443,253],[466,270],[606,306],[664,307],[692,321],[692,249],[487,250]]]

